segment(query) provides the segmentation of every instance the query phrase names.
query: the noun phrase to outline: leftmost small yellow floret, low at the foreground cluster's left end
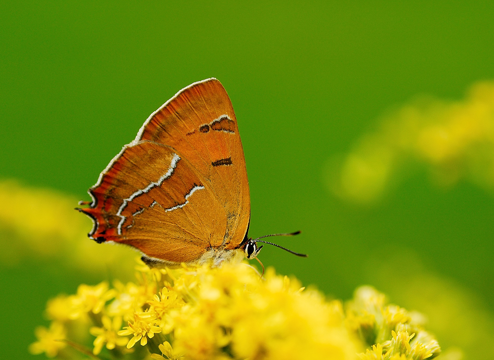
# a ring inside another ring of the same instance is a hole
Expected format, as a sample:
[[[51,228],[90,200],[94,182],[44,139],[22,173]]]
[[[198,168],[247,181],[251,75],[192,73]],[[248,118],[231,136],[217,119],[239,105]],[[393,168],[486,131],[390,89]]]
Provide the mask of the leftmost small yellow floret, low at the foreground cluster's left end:
[[[52,322],[50,328],[39,326],[35,330],[38,341],[29,346],[29,352],[33,355],[45,353],[48,358],[54,358],[58,352],[65,348],[63,341],[67,336],[64,326],[59,322]]]

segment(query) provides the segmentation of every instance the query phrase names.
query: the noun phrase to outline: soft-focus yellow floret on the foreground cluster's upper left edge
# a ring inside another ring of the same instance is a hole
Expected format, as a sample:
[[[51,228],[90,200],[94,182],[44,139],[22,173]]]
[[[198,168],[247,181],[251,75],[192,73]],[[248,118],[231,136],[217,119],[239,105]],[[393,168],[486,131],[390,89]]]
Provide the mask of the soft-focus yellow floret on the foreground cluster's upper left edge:
[[[99,314],[106,302],[116,295],[114,289],[108,289],[108,283],[103,281],[95,286],[79,285],[77,295],[71,297],[73,312],[71,318],[79,318],[83,314],[92,312]]]

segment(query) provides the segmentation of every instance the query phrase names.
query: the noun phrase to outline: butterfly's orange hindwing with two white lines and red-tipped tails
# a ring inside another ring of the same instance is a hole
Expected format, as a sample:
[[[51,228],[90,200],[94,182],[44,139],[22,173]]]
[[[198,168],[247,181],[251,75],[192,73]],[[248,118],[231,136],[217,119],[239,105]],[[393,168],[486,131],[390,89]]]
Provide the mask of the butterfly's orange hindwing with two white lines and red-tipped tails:
[[[169,146],[151,141],[125,146],[90,192],[93,206],[82,211],[95,220],[94,239],[132,245],[173,263],[192,262],[221,244],[223,207]]]

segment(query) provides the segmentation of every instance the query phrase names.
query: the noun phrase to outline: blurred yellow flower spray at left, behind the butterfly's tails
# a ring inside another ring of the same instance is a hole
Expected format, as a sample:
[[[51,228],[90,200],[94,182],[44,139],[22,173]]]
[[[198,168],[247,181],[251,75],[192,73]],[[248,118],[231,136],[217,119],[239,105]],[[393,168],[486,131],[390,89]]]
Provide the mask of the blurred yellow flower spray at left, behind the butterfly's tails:
[[[9,244],[0,252],[3,265],[45,258],[68,269],[90,273],[111,270],[120,278],[132,277],[136,252],[89,240],[91,221],[74,210],[76,198],[6,180],[0,181],[0,202],[10,204],[0,209],[0,240]]]

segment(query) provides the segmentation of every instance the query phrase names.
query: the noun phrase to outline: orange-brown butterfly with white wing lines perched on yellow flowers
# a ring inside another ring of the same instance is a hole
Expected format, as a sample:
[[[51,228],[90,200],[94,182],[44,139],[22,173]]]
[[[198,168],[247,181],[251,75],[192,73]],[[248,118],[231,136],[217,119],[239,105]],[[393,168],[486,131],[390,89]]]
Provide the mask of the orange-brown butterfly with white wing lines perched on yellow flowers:
[[[247,235],[244,150],[230,98],[214,78],[152,113],[88,193],[92,201],[80,204],[89,206],[77,209],[93,221],[88,236],[130,245],[150,266],[257,259],[256,242],[272,244]]]

